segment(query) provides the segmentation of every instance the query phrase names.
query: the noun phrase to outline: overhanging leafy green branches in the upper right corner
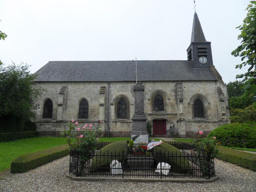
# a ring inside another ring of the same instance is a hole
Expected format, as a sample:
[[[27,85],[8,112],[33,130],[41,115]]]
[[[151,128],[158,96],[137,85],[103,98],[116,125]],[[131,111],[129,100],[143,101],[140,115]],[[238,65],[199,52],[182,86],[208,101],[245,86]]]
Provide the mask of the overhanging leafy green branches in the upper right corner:
[[[241,69],[243,66],[249,66],[248,72],[236,76],[236,78],[244,77],[242,82],[247,82],[245,89],[255,88],[252,85],[256,84],[256,1],[250,1],[250,3],[246,8],[248,13],[243,20],[243,24],[236,27],[241,30],[241,34],[238,35],[241,45],[231,52],[235,57],[242,57],[241,61],[243,62],[236,65],[236,68]],[[247,59],[247,61],[244,61],[244,59]]]

